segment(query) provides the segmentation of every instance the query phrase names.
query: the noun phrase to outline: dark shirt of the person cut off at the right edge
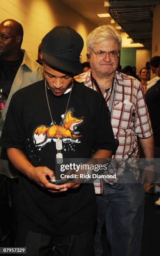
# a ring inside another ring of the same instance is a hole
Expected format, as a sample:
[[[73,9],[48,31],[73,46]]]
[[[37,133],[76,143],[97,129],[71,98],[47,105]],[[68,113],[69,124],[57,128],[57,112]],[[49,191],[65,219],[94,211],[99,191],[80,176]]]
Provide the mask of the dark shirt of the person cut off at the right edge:
[[[153,127],[155,146],[160,147],[160,82],[146,92],[145,100]]]

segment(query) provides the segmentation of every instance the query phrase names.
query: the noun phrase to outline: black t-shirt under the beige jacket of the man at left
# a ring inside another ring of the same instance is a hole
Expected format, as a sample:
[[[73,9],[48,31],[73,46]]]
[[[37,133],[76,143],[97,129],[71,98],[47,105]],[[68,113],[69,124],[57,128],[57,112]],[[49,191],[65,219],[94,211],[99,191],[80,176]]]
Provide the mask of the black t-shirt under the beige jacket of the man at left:
[[[2,89],[2,101],[6,101],[10,93],[15,76],[24,54],[21,53],[20,59],[16,61],[6,61],[0,56],[0,89]]]

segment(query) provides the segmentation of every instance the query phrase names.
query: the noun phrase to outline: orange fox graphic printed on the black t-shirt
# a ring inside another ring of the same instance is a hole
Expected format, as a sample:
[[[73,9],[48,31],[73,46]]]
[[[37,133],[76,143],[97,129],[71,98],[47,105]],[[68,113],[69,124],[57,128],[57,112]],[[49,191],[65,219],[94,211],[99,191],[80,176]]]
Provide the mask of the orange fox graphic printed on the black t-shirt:
[[[64,119],[65,118],[65,119]],[[66,115],[62,115],[60,125],[55,122],[51,125],[39,125],[33,131],[34,143],[36,146],[43,146],[52,139],[56,141],[60,138],[63,142],[70,141],[80,143],[79,138],[82,134],[76,131],[77,127],[84,122],[84,117],[76,118],[73,116],[73,108],[67,110]]]

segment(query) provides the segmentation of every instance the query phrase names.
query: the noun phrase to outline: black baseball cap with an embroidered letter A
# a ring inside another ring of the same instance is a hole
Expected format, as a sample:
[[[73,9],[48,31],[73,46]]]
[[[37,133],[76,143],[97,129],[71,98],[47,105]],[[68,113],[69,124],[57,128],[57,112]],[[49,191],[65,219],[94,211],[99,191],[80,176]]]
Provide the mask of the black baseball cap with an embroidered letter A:
[[[42,39],[42,56],[52,67],[80,74],[82,72],[80,53],[83,45],[82,37],[74,29],[68,26],[56,26]]]

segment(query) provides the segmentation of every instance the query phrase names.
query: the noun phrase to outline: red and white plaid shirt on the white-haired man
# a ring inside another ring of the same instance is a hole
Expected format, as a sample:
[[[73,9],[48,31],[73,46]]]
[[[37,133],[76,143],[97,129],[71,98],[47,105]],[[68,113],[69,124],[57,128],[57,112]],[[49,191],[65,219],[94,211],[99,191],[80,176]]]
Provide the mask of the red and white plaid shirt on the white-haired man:
[[[83,82],[86,86],[97,90],[95,84],[92,85],[91,70],[75,77],[77,82]],[[115,94],[111,112],[111,123],[115,138],[120,142],[113,158],[127,159],[138,145],[139,138],[148,138],[152,135],[152,127],[148,114],[148,109],[143,95],[143,87],[134,77],[129,77],[120,72],[115,72]],[[105,92],[105,100],[110,97],[110,91]],[[107,102],[107,105],[109,101]],[[137,156],[138,148],[132,158]],[[124,170],[124,168],[122,168]],[[115,181],[107,180],[113,184],[122,175],[122,170],[118,170]],[[102,193],[102,180],[95,181],[95,192]]]

